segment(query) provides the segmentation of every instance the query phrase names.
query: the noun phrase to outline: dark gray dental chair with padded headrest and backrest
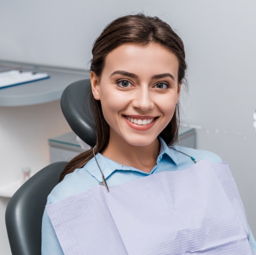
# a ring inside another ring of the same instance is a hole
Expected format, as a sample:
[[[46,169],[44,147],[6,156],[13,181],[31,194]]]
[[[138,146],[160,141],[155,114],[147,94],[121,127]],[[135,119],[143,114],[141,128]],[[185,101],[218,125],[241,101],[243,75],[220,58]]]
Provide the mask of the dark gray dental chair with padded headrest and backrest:
[[[61,109],[71,129],[94,146],[96,134],[89,117],[89,80],[76,81],[62,93]],[[5,223],[12,255],[41,255],[41,224],[47,196],[57,185],[67,162],[46,166],[25,182],[12,196],[5,212]]]

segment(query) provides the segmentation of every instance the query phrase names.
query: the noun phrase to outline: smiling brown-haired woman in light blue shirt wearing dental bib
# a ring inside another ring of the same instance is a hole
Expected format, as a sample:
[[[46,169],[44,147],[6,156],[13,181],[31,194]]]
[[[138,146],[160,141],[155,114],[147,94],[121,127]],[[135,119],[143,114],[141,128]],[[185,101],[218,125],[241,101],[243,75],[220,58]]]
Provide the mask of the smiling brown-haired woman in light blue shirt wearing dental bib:
[[[103,30],[92,53],[97,145],[67,164],[49,194],[42,254],[252,254],[228,166],[207,151],[169,147],[186,85],[179,36],[157,17],[128,15]]]

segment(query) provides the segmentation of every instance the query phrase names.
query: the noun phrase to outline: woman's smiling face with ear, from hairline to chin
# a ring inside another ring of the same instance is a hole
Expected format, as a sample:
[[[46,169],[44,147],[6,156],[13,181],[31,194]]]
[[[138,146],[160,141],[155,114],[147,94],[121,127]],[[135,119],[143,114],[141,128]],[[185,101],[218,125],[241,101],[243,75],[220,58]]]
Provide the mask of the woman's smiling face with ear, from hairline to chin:
[[[93,96],[101,100],[111,136],[150,145],[171,121],[179,101],[178,58],[163,46],[126,43],[110,52]]]

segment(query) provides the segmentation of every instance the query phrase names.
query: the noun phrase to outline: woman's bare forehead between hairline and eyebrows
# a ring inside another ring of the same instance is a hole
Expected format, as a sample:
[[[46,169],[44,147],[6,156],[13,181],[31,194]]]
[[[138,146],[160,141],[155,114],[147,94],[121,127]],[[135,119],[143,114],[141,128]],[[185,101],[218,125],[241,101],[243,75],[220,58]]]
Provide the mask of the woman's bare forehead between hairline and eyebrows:
[[[178,69],[178,58],[162,45],[150,43],[142,46],[126,43],[107,55],[102,75],[110,75],[116,70],[135,73],[141,78],[171,73],[177,81]]]

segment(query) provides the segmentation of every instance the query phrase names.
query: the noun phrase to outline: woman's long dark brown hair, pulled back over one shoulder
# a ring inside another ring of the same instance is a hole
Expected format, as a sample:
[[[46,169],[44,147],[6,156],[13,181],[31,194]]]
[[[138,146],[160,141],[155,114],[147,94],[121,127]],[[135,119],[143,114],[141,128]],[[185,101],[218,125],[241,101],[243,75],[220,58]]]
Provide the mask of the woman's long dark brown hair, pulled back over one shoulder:
[[[166,49],[174,53],[179,60],[179,83],[186,81],[185,73],[187,63],[185,61],[183,41],[172,30],[169,24],[160,20],[158,17],[150,17],[142,13],[120,17],[106,26],[93,43],[93,58],[91,60],[90,70],[100,77],[108,53],[127,42],[134,42],[140,45],[147,45],[150,42],[154,42],[163,45]],[[103,116],[101,102],[94,99],[91,88],[89,88],[86,93],[89,93],[89,103],[95,122],[97,134],[95,154],[97,154],[104,150],[108,145],[110,139],[110,126]],[[177,141],[178,130],[179,103],[176,105],[175,113],[171,121],[159,136],[170,146]],[[73,158],[65,166],[65,169],[60,176],[60,182],[66,174],[70,174],[77,168],[83,167],[91,158],[93,158],[92,149]]]

